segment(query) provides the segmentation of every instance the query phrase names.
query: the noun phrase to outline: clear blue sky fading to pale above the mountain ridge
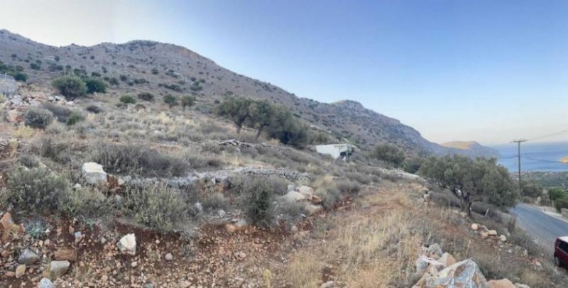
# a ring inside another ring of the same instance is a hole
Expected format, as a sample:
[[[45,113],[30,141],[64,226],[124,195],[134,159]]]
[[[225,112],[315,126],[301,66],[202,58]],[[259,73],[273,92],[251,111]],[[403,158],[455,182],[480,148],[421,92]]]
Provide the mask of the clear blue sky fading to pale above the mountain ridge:
[[[568,1],[2,0],[49,45],[157,40],[322,102],[359,101],[437,143],[568,129]],[[539,141],[568,140],[568,133]]]

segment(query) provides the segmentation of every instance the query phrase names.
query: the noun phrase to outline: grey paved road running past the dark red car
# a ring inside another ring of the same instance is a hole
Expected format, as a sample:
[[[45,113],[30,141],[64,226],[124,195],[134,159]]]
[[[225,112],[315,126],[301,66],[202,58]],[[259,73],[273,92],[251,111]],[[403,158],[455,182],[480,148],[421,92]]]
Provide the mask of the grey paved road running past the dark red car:
[[[548,251],[554,250],[559,236],[568,236],[568,222],[545,214],[535,206],[518,204],[512,209],[517,216],[518,225]]]

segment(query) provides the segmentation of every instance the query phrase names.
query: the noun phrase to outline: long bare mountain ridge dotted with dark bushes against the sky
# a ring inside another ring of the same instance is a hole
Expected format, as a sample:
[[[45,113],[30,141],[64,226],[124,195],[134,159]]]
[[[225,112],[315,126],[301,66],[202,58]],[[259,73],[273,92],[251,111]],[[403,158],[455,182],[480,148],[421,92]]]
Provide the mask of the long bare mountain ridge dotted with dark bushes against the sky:
[[[40,84],[49,84],[54,77],[73,71],[106,79],[111,84],[111,92],[116,94],[191,93],[197,95],[202,104],[229,95],[268,99],[292,109],[295,116],[310,123],[312,128],[331,131],[363,148],[376,143],[393,143],[411,153],[447,153],[447,149],[422,138],[415,129],[365,109],[355,101],[327,104],[300,98],[273,84],[226,70],[178,45],[134,40],[124,44],[57,48],[2,30],[0,60],[7,65],[20,66],[29,75],[28,82]]]

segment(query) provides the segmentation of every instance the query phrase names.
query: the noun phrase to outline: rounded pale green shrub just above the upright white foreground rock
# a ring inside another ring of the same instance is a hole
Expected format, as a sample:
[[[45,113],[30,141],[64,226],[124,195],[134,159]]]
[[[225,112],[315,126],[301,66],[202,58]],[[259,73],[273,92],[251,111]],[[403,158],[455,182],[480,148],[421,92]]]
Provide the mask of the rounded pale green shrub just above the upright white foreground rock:
[[[126,190],[127,214],[158,231],[172,231],[187,216],[187,204],[178,189],[155,184]]]

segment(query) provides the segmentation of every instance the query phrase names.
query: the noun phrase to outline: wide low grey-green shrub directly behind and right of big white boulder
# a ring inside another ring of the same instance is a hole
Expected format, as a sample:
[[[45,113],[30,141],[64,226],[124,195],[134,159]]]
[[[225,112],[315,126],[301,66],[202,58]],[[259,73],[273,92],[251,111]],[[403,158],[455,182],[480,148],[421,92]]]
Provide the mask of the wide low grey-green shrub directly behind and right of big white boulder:
[[[187,169],[184,160],[164,155],[140,145],[98,145],[94,162],[113,173],[141,173],[155,176],[181,176]]]

